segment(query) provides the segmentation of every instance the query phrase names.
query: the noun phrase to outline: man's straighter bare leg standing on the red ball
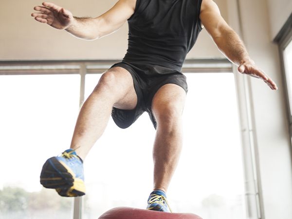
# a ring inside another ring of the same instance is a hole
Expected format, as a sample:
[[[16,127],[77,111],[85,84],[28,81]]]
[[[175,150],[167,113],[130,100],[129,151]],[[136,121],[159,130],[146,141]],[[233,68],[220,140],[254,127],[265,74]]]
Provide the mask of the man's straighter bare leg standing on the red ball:
[[[182,113],[185,97],[182,87],[166,84],[152,100],[152,112],[157,121],[153,147],[154,189],[164,192],[176,169],[183,145]]]

